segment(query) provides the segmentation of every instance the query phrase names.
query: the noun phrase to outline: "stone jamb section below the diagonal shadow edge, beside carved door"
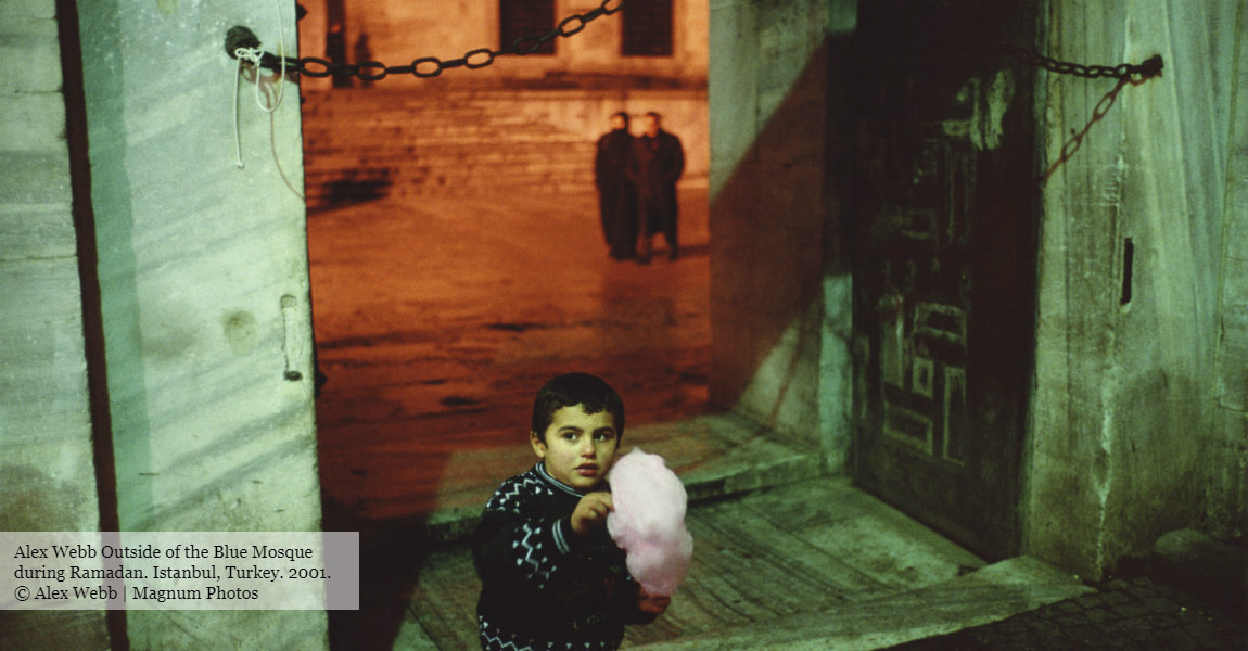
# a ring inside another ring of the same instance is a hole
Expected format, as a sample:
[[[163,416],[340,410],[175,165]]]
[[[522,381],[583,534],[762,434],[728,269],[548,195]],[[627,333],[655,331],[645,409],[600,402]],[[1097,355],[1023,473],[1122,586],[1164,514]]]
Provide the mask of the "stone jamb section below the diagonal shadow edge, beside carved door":
[[[830,52],[840,47],[827,37],[810,55],[711,200],[711,402],[814,445],[820,387],[834,379],[831,390],[847,395],[850,385],[850,294],[825,299],[825,288],[850,278],[837,172],[849,143],[829,137],[847,132],[850,107],[830,92],[844,60]],[[821,370],[829,347],[842,354]]]

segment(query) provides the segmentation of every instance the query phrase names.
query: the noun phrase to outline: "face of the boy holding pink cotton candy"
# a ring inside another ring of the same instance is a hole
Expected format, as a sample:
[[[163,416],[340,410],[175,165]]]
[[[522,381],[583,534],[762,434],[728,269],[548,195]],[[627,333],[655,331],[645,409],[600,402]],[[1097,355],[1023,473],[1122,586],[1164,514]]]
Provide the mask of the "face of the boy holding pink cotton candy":
[[[533,432],[529,443],[550,476],[574,489],[588,490],[607,478],[615,461],[619,433],[615,432],[615,417],[609,412],[587,414],[575,404],[554,413],[545,441]]]

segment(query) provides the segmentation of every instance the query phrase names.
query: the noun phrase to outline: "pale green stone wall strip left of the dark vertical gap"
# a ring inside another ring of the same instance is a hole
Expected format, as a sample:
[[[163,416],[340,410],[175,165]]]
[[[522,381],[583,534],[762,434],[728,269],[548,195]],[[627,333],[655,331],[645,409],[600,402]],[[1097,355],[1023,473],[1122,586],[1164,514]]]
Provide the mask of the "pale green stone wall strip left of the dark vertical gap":
[[[0,529],[6,531],[94,531],[100,523],[65,115],[55,0],[0,4]],[[109,646],[100,611],[0,611],[0,631],[5,649]]]

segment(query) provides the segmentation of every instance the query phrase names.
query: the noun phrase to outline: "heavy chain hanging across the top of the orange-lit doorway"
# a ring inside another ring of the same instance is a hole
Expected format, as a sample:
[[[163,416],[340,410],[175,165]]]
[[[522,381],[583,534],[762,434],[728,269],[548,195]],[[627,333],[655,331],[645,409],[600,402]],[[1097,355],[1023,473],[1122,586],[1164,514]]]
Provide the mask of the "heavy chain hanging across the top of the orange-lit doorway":
[[[446,61],[436,56],[422,56],[406,66],[387,66],[381,61],[334,64],[328,59],[316,56],[295,59],[290,56],[280,57],[272,52],[263,52],[261,55],[260,65],[270,70],[281,70],[282,66],[286,66],[287,71],[298,72],[300,75],[307,77],[358,77],[363,81],[378,81],[391,75],[413,75],[422,79],[436,77],[441,75],[443,70],[453,67],[477,70],[493,64],[499,56],[524,56],[527,54],[533,54],[554,39],[578,34],[580,30],[585,29],[589,22],[600,16],[608,16],[620,11],[624,9],[624,2],[625,0],[603,0],[602,5],[584,14],[573,14],[560,20],[554,29],[544,34],[520,36],[519,39],[512,41],[510,45],[500,50],[478,47],[464,52],[464,55],[459,59],[448,59]]]

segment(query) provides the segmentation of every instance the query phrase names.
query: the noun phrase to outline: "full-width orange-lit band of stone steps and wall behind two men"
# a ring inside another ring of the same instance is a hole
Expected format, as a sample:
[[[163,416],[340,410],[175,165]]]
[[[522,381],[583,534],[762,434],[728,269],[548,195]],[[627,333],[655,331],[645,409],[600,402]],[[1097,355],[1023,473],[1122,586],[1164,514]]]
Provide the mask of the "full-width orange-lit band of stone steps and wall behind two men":
[[[308,207],[378,196],[593,192],[608,116],[663,115],[685,151],[681,188],[705,188],[706,92],[422,87],[303,92]],[[419,89],[419,90],[417,90]]]

